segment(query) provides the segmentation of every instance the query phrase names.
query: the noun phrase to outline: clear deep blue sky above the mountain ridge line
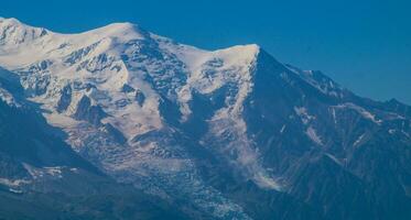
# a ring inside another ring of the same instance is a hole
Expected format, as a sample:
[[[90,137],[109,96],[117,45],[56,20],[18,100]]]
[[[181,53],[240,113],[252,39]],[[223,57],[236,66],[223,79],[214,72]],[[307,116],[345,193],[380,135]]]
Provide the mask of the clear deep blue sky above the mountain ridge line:
[[[210,50],[257,43],[361,96],[411,105],[407,0],[0,0],[0,16],[56,32],[129,21]]]

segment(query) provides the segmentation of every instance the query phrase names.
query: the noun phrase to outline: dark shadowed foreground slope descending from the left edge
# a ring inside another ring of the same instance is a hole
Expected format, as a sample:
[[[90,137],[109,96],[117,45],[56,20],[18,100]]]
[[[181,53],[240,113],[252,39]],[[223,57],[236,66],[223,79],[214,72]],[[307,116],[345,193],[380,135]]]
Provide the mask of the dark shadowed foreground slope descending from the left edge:
[[[185,219],[79,157],[0,74],[0,219]]]

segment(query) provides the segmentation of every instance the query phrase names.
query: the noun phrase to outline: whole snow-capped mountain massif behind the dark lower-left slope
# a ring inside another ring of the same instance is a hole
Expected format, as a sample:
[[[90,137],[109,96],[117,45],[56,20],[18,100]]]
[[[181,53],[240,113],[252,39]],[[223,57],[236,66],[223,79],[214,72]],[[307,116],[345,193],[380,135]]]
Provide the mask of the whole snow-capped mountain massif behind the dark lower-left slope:
[[[53,128],[48,147],[58,147],[54,139],[71,146],[55,163],[79,160],[165,211],[175,206],[191,219],[411,217],[411,107],[358,97],[258,45],[210,52],[130,23],[61,34],[0,19],[0,66],[17,85],[1,84],[6,106],[29,105]]]

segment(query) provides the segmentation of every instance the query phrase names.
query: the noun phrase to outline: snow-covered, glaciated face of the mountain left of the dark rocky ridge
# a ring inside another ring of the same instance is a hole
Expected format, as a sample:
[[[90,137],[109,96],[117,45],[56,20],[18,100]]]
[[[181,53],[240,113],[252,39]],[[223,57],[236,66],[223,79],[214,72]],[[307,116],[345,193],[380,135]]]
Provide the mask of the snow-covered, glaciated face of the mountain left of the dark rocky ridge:
[[[67,142],[73,148],[80,154],[88,152],[90,160],[97,160],[98,166],[109,174],[127,174],[119,178],[144,185],[145,182],[136,182],[141,178],[137,174],[161,173],[170,182],[159,186],[165,191],[167,185],[183,180],[176,175],[193,175],[195,166],[187,157],[187,146],[176,142],[175,135],[184,135],[179,130],[196,117],[193,103],[198,96],[219,102],[209,109],[210,130],[202,134],[203,141],[221,135],[220,129],[226,129],[223,124],[231,124],[226,132],[238,136],[247,130],[241,109],[252,88],[252,72],[260,51],[257,45],[209,52],[130,23],[78,34],[44,31],[46,34],[42,35],[37,34],[42,29],[11,21],[2,25],[13,23],[14,31],[3,29],[0,66],[18,74],[25,95],[41,105],[48,123],[68,134]],[[32,32],[33,36],[26,37]],[[14,40],[22,36],[24,41],[17,44]],[[221,91],[225,97],[219,97]],[[236,164],[245,178],[264,188],[279,189],[259,164],[251,142],[241,138],[240,143],[245,145],[228,146],[239,157],[227,160]],[[218,145],[213,151],[226,151]],[[191,178],[199,180],[198,176]],[[213,191],[204,184],[193,187],[199,194]],[[188,189],[193,190],[184,190]],[[207,197],[220,196],[215,191]],[[238,207],[232,205],[230,209]]]

